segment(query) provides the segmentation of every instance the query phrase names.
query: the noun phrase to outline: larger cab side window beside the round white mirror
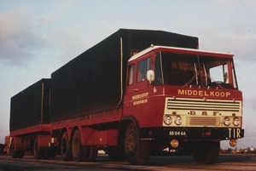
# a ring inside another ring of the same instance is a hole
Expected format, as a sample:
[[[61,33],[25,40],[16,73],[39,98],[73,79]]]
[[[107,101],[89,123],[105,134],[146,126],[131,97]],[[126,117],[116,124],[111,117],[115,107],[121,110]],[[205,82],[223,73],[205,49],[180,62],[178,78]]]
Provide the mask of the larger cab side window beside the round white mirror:
[[[137,65],[137,82],[143,82],[147,79],[147,71],[151,69],[151,57],[140,61]]]

